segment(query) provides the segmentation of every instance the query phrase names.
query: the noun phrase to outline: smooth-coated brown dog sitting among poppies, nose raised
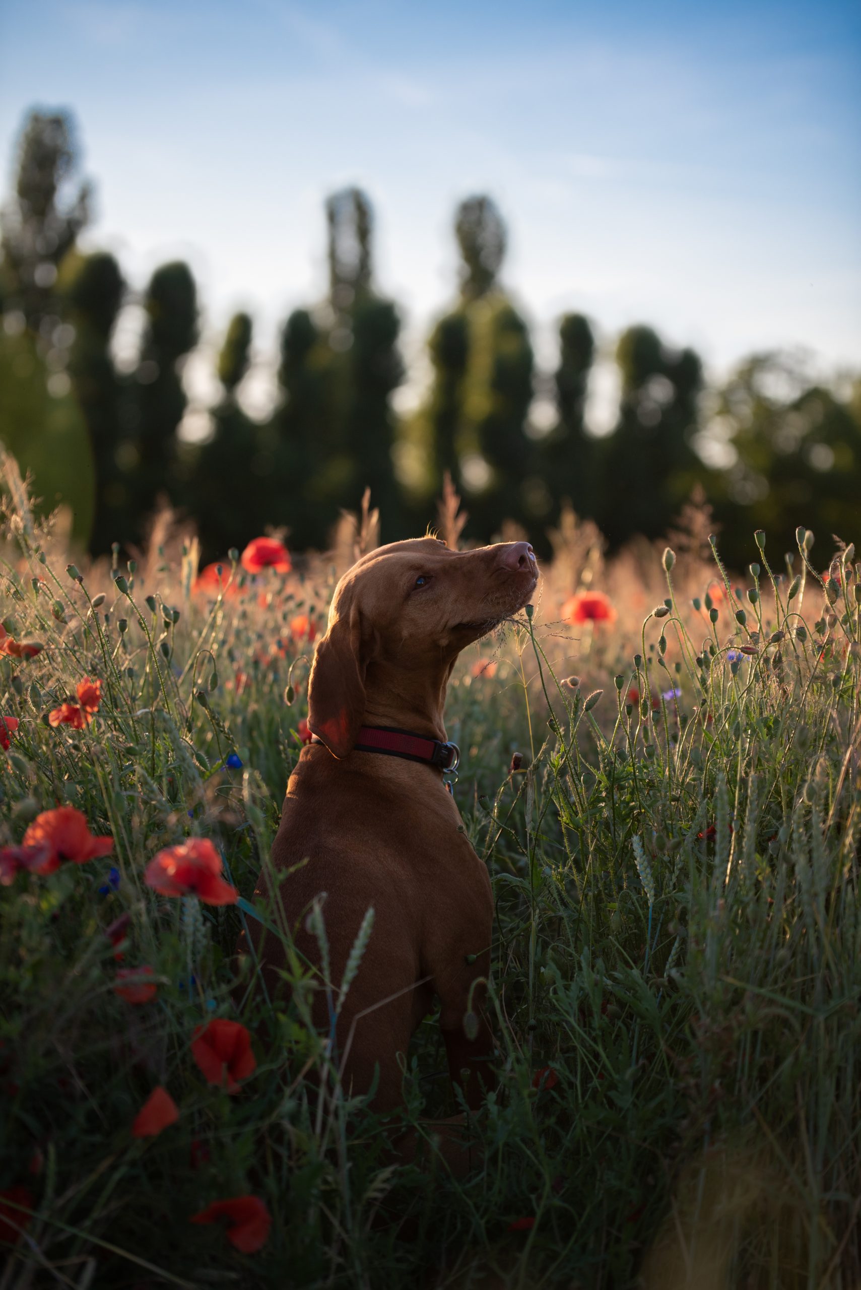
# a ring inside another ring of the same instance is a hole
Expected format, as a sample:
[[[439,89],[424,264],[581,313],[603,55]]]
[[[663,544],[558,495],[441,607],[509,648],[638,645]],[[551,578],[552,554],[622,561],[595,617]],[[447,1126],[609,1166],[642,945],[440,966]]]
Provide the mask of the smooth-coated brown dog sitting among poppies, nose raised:
[[[438,765],[358,751],[360,728],[360,743],[370,738],[365,728],[383,728],[445,744],[442,707],[458,654],[521,609],[536,582],[526,542],[465,552],[436,538],[394,542],[344,574],[317,645],[308,685],[317,742],[287,783],[272,863],[284,875],[278,895],[296,948],[320,970],[314,1024],[334,1032],[331,1057],[347,1093],[367,1093],[378,1078],[379,1111],[402,1100],[398,1054],[434,996],[451,1078],[470,1107],[479,1103],[492,1057],[481,982],[494,908],[487,869]],[[308,918],[321,893],[327,973]],[[256,894],[269,894],[266,871]],[[369,908],[370,939],[340,998]],[[259,925],[251,935],[277,989],[284,948]]]

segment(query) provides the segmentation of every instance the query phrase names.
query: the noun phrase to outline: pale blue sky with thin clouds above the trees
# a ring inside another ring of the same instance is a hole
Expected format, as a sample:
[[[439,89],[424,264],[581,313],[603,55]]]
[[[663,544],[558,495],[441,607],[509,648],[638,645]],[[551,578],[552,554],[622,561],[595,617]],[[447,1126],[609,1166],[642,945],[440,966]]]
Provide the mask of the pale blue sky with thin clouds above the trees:
[[[407,352],[451,298],[455,203],[509,223],[505,281],[552,357],[580,308],[714,370],[861,356],[861,8],[531,0],[0,0],[0,163],[68,106],[92,244],[140,285],[187,255],[210,334],[262,351],[325,285],[322,200],[360,183]]]

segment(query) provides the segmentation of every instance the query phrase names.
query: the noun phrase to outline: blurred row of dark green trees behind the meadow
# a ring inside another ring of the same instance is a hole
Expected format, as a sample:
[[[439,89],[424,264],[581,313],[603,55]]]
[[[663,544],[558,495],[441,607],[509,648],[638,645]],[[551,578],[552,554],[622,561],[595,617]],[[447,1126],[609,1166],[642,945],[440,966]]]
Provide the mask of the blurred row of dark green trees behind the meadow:
[[[391,541],[433,521],[446,475],[465,499],[467,538],[490,541],[512,521],[540,551],[566,506],[616,548],[665,534],[696,489],[731,561],[749,555],[757,528],[786,550],[798,524],[856,535],[857,379],[837,390],[793,356],[760,353],[708,387],[693,350],[634,325],[615,346],[616,424],[598,439],[586,423],[593,324],[566,313],[556,372],[536,370],[501,276],[505,223],[485,195],[455,213],[458,290],[428,338],[432,381],[415,413],[393,408],[401,319],[375,281],[370,200],[347,188],[325,205],[327,292],[280,333],[275,410],[259,422],[242,408],[254,322],[237,313],[218,353],[211,437],[184,442],[182,373],[200,339],[193,275],[180,261],[156,268],[139,297],[135,361],[117,366],[112,337],[133,293],[113,255],[79,246],[92,190],[77,172],[70,115],[31,112],[0,227],[0,439],[32,471],[46,510],[72,507],[73,533],[93,553],[140,544],[161,498],[195,519],[206,557],[267,526],[286,529],[296,550],[320,550],[367,486]],[[534,424],[536,393],[553,410],[549,426]]]

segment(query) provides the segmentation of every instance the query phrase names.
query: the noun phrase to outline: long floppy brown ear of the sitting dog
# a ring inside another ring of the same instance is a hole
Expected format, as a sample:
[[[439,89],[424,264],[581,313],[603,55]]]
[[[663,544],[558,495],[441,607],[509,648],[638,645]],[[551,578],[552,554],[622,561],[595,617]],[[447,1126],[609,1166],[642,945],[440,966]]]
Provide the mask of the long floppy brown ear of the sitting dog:
[[[352,751],[365,715],[362,624],[358,609],[336,618],[317,642],[308,680],[308,729],[335,757]]]

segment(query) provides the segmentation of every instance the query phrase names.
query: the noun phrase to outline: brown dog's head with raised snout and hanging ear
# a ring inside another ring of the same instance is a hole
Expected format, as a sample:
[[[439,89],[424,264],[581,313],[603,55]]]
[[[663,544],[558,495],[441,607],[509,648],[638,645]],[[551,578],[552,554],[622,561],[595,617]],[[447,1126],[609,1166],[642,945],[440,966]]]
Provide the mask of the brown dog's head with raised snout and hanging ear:
[[[472,641],[528,601],[537,564],[527,542],[450,551],[437,538],[393,542],[338,583],[308,684],[308,725],[336,757],[356,742],[371,664],[414,679],[451,667]]]

